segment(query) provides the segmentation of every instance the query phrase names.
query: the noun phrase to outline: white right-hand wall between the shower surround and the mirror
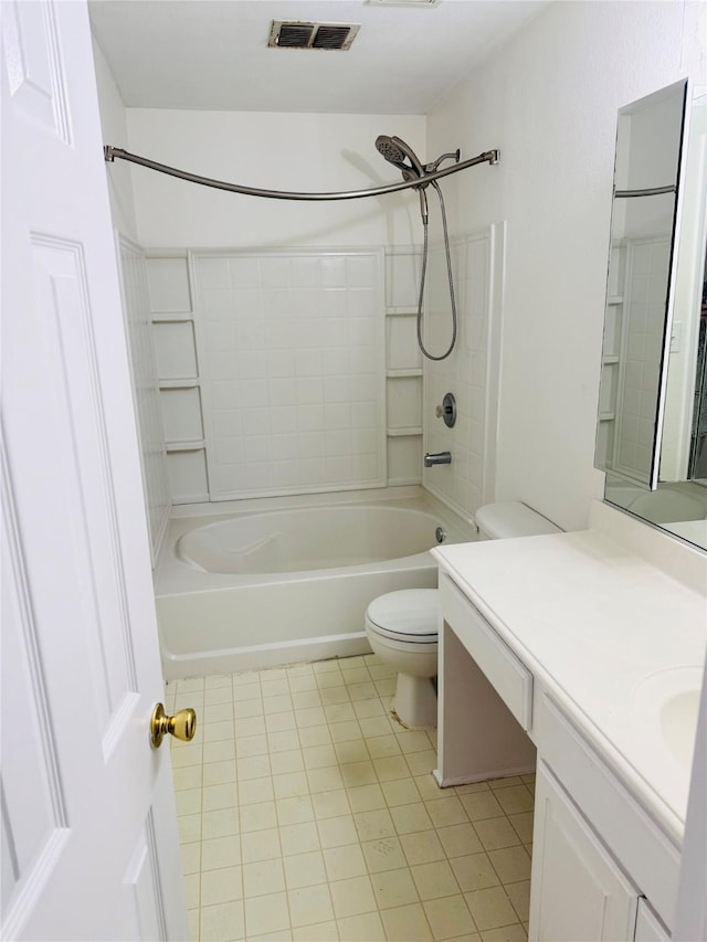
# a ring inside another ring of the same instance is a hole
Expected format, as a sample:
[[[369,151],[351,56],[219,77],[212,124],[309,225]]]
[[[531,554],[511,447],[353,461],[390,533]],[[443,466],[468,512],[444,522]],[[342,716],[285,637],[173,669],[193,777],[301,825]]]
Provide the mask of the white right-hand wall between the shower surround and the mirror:
[[[559,2],[429,116],[428,151],[497,167],[445,181],[457,233],[507,220],[497,499],[587,525],[616,110],[690,73],[697,4]],[[704,83],[704,77],[700,80]]]

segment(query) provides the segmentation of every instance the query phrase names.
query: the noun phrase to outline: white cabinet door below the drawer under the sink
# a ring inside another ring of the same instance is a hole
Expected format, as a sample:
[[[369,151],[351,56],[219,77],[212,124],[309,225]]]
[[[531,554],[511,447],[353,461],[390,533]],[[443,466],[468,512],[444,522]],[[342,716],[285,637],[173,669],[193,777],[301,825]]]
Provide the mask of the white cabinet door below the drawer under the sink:
[[[530,940],[633,940],[639,892],[547,765],[536,782]]]

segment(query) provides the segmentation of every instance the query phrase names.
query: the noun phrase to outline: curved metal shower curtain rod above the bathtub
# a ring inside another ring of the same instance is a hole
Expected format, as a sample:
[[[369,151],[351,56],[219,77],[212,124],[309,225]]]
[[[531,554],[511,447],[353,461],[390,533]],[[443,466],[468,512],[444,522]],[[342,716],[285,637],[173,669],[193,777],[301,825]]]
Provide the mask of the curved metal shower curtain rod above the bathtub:
[[[452,167],[446,167],[444,170],[435,170],[432,173],[425,173],[422,177],[415,177],[414,180],[403,180],[401,183],[389,183],[386,187],[374,187],[369,190],[344,190],[334,193],[296,193],[286,190],[262,190],[257,187],[244,187],[240,183],[226,183],[223,180],[213,180],[210,177],[200,177],[197,173],[189,173],[186,170],[177,170],[175,167],[168,167],[166,163],[158,163],[155,160],[149,160],[147,157],[139,157],[137,154],[130,154],[122,147],[112,147],[106,145],[103,148],[103,156],[106,162],[112,163],[116,158],[119,160],[128,160],[130,163],[138,163],[140,167],[147,167],[149,170],[157,170],[159,173],[167,173],[169,177],[178,177],[180,180],[188,180],[190,183],[200,183],[202,187],[213,187],[217,190],[228,190],[231,193],[242,193],[246,197],[266,197],[271,200],[360,200],[363,197],[378,197],[381,193],[395,193],[398,190],[415,189],[431,183],[433,180],[439,180],[441,177],[449,177],[450,173],[457,173],[460,170],[465,170],[467,167],[474,167],[477,163],[498,163],[499,155],[497,150],[485,150],[478,157],[472,157],[468,160],[461,160]]]

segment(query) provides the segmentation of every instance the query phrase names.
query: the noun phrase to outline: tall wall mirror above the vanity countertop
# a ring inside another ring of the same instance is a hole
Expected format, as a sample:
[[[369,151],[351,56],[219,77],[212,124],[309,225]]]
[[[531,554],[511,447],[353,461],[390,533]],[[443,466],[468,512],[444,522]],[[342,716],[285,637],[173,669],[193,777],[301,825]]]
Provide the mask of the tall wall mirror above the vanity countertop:
[[[619,112],[595,466],[604,497],[707,548],[707,98]]]

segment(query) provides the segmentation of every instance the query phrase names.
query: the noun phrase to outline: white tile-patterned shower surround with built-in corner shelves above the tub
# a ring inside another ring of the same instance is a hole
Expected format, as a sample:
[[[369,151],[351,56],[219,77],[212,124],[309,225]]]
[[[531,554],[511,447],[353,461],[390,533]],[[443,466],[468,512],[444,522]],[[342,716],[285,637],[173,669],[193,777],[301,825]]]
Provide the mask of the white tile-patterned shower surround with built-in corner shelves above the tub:
[[[458,339],[442,362],[418,349],[414,246],[190,253],[123,241],[154,551],[171,504],[416,484],[463,516],[493,499],[499,233],[453,244]],[[425,308],[436,352],[450,298],[434,244]],[[454,428],[435,415],[445,392]],[[423,451],[450,451],[452,464],[423,474]]]

